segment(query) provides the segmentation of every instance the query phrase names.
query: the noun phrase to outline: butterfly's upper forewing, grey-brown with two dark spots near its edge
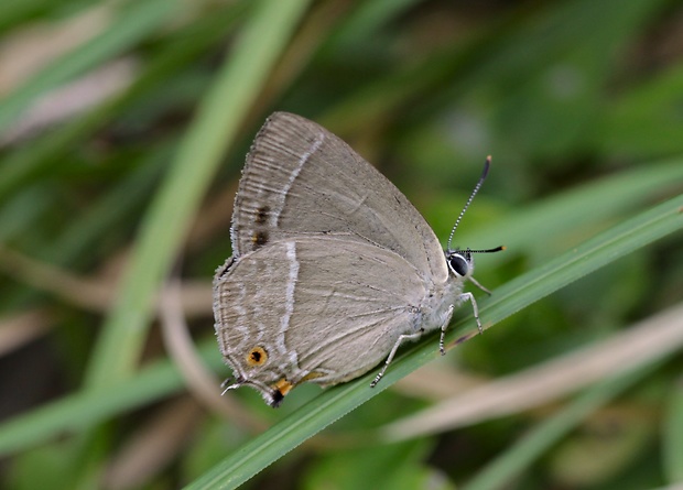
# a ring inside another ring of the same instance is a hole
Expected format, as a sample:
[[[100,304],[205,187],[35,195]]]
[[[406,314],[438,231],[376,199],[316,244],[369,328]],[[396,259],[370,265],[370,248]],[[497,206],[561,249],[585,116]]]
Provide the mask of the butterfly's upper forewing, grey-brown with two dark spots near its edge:
[[[232,215],[234,254],[323,233],[349,233],[393,251],[437,281],[448,275],[434,232],[393,184],[326,129],[275,112],[247,157]]]

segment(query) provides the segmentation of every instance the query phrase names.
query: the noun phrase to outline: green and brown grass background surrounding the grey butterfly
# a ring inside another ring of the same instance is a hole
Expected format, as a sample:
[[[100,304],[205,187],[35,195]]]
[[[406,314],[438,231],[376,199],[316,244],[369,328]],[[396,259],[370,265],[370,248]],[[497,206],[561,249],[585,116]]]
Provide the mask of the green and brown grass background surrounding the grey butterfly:
[[[683,484],[683,2],[0,10],[1,488]],[[210,280],[274,110],[345,139],[444,242],[491,154],[454,244],[507,246],[477,257],[494,296],[470,288],[496,325],[405,349],[386,391],[218,398]]]

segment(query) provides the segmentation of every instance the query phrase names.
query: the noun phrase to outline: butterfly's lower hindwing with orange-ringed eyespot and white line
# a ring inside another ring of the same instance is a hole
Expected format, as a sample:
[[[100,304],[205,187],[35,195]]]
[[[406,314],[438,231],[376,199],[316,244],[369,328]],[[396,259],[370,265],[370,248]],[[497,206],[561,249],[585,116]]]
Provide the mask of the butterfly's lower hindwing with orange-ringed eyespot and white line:
[[[356,378],[423,327],[426,284],[397,253],[339,237],[281,240],[219,270],[216,335],[237,383],[277,405],[302,381]]]

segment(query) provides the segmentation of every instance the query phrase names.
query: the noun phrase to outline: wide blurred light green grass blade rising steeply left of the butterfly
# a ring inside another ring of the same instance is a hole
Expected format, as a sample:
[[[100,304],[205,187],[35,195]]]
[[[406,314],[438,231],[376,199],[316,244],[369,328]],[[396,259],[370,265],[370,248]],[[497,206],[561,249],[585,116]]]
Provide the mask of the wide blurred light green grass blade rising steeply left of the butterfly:
[[[261,1],[199,111],[142,225],[116,303],[94,349],[86,382],[96,388],[131,375],[152,315],[220,156],[253,104],[307,0]]]

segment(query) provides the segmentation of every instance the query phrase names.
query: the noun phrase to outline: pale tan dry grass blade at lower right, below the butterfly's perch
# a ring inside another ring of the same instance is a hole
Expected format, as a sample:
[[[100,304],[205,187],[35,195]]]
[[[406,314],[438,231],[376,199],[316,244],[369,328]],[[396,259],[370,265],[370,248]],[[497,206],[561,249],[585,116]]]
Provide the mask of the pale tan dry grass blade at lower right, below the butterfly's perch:
[[[528,410],[680,349],[683,305],[542,366],[490,382],[381,428],[388,440],[434,434]]]

